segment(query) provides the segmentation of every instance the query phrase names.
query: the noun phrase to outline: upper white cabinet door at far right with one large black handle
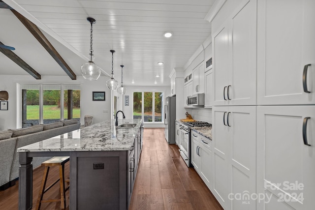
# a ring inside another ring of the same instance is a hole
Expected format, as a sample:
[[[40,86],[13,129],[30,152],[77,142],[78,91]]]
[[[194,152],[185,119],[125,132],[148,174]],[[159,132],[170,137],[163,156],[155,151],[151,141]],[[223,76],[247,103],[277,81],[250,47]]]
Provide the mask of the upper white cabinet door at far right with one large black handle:
[[[315,104],[314,8],[314,0],[258,1],[258,105]]]

